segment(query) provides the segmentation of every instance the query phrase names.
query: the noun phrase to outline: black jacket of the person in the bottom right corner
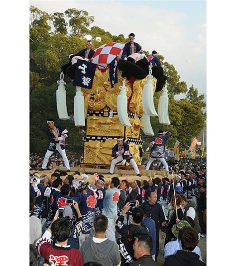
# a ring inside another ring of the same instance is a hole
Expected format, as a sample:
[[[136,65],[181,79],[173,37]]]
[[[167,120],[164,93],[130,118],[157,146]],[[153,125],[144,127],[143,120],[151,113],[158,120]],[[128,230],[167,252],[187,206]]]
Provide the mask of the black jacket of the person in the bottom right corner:
[[[204,266],[199,260],[199,255],[194,252],[178,250],[175,255],[166,258],[163,266]]]

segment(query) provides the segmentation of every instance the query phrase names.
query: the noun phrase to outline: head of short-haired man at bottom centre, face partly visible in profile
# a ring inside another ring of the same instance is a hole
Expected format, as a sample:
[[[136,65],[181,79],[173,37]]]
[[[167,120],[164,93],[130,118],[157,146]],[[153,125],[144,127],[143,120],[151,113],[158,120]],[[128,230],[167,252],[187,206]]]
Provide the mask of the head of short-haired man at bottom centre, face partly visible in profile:
[[[153,248],[152,238],[148,234],[140,234],[135,237],[133,251],[134,258],[139,259],[143,255],[150,255]]]

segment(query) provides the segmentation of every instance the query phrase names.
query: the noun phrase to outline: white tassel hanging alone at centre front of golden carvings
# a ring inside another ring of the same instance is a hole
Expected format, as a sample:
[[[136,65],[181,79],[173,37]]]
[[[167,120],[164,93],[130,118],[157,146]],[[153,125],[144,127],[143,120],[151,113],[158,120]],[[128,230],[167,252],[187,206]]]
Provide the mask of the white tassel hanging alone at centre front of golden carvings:
[[[127,111],[127,95],[126,91],[128,90],[125,87],[125,80],[123,80],[122,86],[119,86],[120,92],[117,97],[117,112],[119,117],[119,122],[123,126],[131,127],[131,124],[128,120],[128,111]]]

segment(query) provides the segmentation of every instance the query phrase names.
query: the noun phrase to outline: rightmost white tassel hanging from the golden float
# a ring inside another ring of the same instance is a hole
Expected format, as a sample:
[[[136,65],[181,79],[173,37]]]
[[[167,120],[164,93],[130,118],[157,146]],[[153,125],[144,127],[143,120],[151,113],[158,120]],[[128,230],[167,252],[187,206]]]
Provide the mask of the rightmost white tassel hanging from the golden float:
[[[158,117],[159,123],[163,125],[170,125],[169,111],[168,111],[168,90],[167,90],[167,81],[165,87],[162,89],[162,93],[158,103]]]

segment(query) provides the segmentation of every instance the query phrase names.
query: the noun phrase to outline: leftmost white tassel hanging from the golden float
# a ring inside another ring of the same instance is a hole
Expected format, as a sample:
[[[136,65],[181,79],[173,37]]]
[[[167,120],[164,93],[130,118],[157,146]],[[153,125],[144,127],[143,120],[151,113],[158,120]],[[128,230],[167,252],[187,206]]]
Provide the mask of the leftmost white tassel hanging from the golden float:
[[[66,83],[64,82],[64,74],[61,72],[60,74],[60,81],[57,81],[58,89],[56,91],[57,96],[57,113],[59,116],[59,119],[67,120],[69,119],[68,113],[67,113],[67,106],[66,106],[66,89],[65,86]]]

